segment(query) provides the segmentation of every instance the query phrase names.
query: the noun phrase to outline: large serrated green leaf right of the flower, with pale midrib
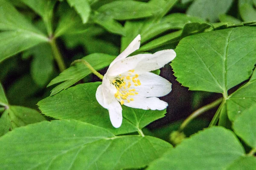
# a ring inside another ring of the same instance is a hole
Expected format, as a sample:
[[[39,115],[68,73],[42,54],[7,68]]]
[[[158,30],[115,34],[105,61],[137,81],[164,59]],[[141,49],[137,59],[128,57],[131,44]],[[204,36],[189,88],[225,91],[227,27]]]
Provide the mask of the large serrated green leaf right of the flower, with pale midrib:
[[[255,27],[242,26],[183,38],[171,64],[177,81],[190,90],[226,93],[250,77],[255,36]]]

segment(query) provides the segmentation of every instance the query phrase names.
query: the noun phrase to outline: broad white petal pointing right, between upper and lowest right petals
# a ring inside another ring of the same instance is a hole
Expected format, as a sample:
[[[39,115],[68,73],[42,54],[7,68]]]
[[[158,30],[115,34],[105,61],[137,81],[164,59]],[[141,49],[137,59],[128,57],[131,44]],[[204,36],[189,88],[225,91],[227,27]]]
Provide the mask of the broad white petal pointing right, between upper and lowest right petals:
[[[172,83],[157,74],[147,72],[140,74],[138,79],[141,85],[131,86],[139,93],[138,96],[161,97],[172,91]]]

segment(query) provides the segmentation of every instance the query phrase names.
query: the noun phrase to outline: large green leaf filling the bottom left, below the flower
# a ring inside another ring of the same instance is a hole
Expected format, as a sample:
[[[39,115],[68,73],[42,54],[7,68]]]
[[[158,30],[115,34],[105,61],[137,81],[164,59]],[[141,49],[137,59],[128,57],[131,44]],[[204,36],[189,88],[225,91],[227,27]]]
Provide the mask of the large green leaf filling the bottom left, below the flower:
[[[151,136],[114,136],[75,120],[44,121],[0,138],[0,166],[5,170],[140,168],[171,148]]]

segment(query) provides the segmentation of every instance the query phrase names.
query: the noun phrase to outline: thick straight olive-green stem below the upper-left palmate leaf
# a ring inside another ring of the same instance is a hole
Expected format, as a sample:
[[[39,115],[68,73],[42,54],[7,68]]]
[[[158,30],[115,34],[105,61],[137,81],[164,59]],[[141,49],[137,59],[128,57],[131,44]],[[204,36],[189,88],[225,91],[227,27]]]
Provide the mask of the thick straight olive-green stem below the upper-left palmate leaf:
[[[63,61],[63,58],[61,56],[61,52],[59,51],[58,47],[57,47],[57,44],[56,44],[56,41],[54,38],[52,38],[50,41],[50,44],[52,46],[52,52],[53,52],[53,55],[54,55],[54,58],[58,64],[58,68],[60,69],[60,71],[64,71],[66,69],[66,66],[64,64],[64,61]]]

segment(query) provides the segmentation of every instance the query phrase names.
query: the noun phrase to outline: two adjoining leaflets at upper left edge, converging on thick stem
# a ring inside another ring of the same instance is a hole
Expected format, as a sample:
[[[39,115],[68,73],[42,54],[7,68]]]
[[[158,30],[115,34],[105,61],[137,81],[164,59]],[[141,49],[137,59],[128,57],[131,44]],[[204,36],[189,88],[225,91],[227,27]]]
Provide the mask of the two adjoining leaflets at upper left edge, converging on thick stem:
[[[0,0],[0,62],[48,38],[6,0]]]

